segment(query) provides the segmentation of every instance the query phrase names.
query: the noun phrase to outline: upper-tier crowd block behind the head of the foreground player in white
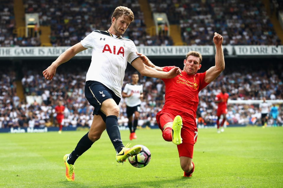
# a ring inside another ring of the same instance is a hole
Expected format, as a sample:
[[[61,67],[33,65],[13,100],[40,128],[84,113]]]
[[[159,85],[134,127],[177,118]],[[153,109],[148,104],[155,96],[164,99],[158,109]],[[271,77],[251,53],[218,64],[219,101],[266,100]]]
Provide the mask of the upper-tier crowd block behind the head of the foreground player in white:
[[[127,6],[134,12],[134,22],[123,37],[136,45],[172,45],[168,36],[151,37],[146,34],[143,12],[138,0],[130,1],[46,1],[24,0],[26,13],[39,13],[40,25],[51,27],[50,42],[53,46],[71,46],[94,30],[107,30],[117,6]]]

